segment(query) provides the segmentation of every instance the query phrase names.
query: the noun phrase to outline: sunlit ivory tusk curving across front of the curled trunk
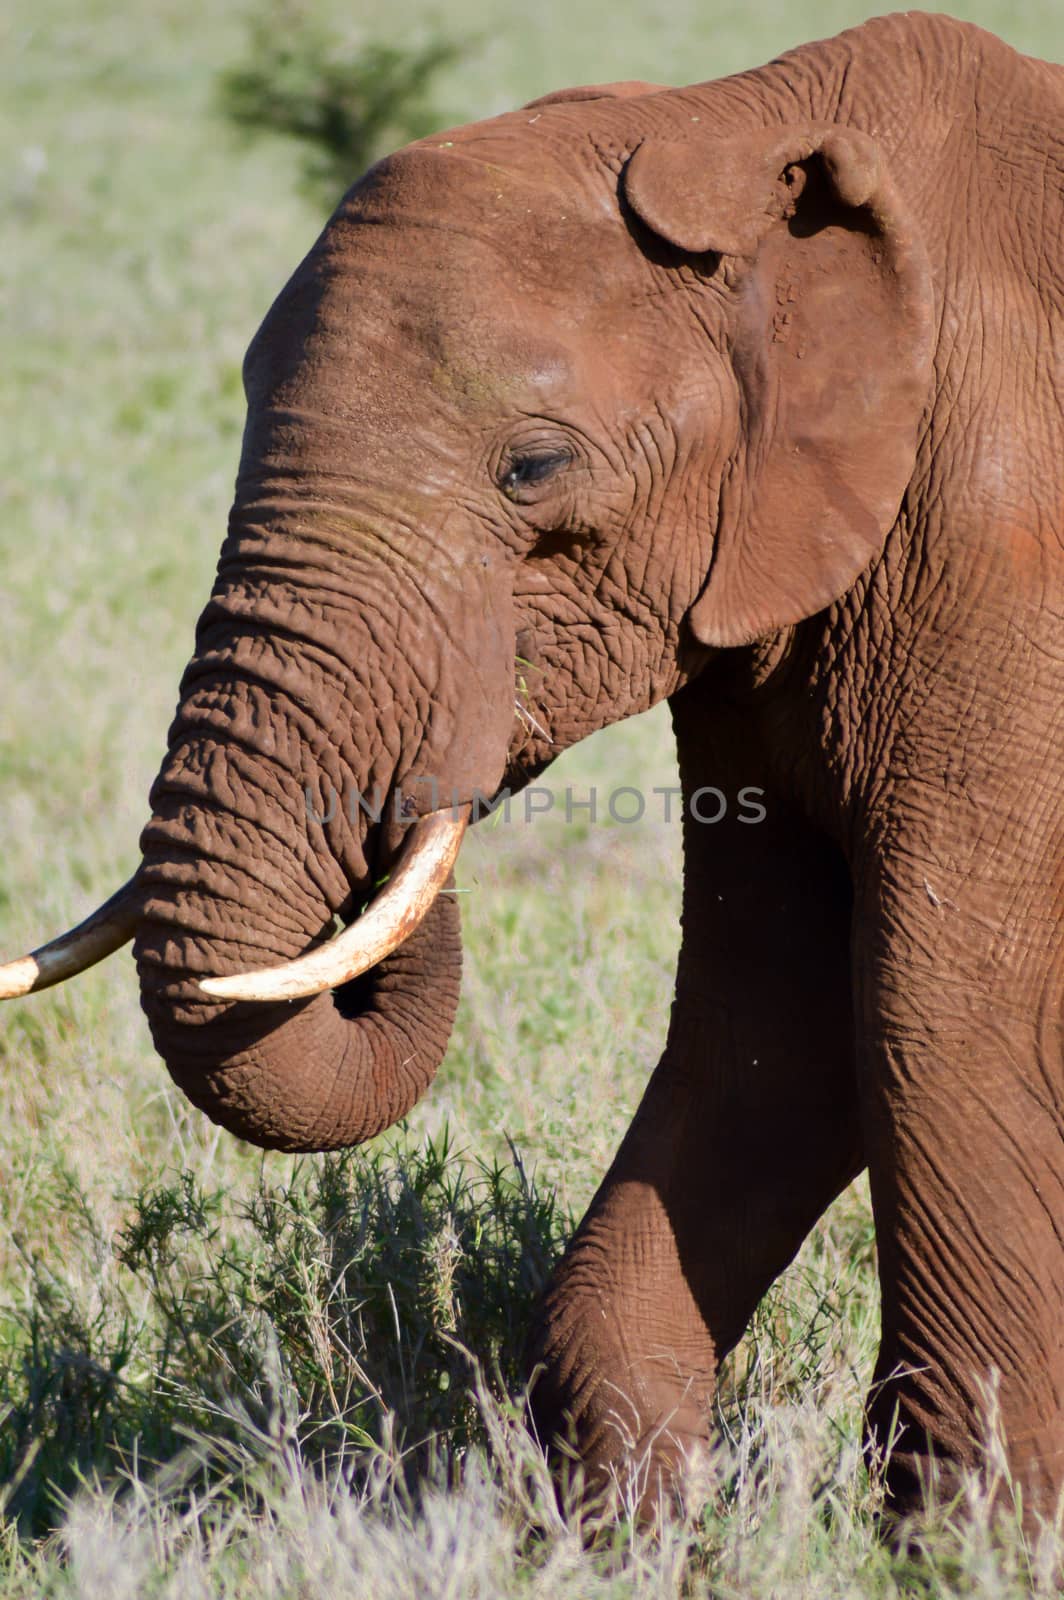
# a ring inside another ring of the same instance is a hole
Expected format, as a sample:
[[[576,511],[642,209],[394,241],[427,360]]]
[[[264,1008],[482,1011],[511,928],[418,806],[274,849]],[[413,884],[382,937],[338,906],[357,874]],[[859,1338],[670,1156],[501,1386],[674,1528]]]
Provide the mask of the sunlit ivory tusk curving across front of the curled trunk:
[[[432,811],[414,822],[386,886],[362,917],[328,944],[280,966],[205,978],[200,989],[219,1000],[302,1000],[366,973],[427,915],[458,859],[469,810]]]

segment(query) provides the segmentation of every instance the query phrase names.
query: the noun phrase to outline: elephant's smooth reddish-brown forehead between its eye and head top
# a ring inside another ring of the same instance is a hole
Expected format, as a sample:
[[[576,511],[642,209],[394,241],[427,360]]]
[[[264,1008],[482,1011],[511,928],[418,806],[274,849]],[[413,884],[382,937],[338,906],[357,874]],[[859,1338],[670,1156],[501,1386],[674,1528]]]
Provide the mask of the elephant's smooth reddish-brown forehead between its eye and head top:
[[[483,150],[379,163],[248,352],[251,406],[283,413],[286,437],[312,421],[389,456],[419,435],[438,451],[443,416],[490,426],[582,394],[640,262],[603,176],[597,197],[573,182],[558,203],[554,179]]]

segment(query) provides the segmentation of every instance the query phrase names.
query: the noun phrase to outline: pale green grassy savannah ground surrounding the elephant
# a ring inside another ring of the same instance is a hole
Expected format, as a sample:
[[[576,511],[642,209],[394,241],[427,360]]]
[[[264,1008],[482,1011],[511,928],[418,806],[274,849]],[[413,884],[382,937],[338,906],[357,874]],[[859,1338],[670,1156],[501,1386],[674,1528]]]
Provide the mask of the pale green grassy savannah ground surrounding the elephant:
[[[464,38],[440,122],[563,83],[686,82],[861,21],[854,3],[416,0],[288,10],[402,46]],[[1059,58],[1053,0],[955,5]],[[246,13],[16,0],[0,21],[0,950],[136,862],[224,530],[240,360],[312,242],[301,149],[219,72]],[[350,178],[357,176],[355,171]],[[720,1443],[646,1538],[558,1507],[520,1427],[530,1301],[664,1042],[678,829],[664,712],[573,750],[554,813],[483,824],[440,1078],[342,1158],[261,1157],[152,1054],[128,955],[0,1016],[0,1595],[1026,1595],[973,1486],[885,1550],[859,1453],[875,1355],[862,1184],[728,1363]],[[597,786],[600,816],[565,819]],[[630,803],[630,802],[629,802]],[[621,802],[621,810],[624,802]],[[758,1160],[757,1141],[749,1150]],[[480,1368],[474,1365],[480,1360]]]

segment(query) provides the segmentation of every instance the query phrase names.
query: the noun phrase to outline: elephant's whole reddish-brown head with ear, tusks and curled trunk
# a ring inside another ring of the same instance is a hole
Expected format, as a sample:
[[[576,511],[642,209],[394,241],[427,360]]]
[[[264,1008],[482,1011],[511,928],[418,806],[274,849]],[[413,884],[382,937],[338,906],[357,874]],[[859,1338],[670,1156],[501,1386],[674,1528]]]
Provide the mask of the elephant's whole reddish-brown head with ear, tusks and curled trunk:
[[[458,1002],[470,808],[853,584],[930,315],[875,142],[728,85],[574,91],[374,166],[248,352],[142,862],[2,992],[136,934],[210,1117],[325,1149],[403,1115]]]

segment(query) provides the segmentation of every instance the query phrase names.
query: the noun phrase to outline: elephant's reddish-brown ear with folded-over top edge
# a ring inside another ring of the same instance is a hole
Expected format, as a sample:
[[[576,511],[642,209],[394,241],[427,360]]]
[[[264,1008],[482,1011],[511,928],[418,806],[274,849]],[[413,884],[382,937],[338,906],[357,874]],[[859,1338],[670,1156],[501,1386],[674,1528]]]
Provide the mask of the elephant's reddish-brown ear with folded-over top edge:
[[[624,194],[675,248],[725,258],[742,438],[690,626],[750,643],[840,598],[898,517],[930,394],[928,258],[851,128],[646,141]]]

